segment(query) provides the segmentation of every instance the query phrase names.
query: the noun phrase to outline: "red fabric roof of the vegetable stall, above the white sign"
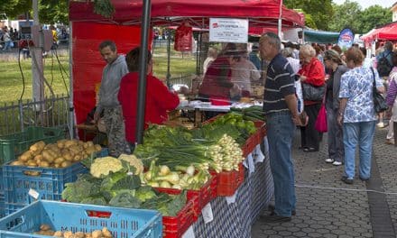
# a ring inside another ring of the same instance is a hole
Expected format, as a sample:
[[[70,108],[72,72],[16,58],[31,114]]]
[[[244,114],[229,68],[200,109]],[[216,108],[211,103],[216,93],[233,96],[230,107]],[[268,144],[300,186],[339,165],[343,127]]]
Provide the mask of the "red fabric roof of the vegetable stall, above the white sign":
[[[112,0],[115,14],[106,19],[94,14],[91,2],[71,1],[72,22],[140,24],[143,0]],[[152,25],[175,25],[188,20],[192,26],[208,28],[209,17],[249,18],[250,26],[277,25],[280,0],[152,0]],[[303,26],[300,14],[282,5],[282,25]]]

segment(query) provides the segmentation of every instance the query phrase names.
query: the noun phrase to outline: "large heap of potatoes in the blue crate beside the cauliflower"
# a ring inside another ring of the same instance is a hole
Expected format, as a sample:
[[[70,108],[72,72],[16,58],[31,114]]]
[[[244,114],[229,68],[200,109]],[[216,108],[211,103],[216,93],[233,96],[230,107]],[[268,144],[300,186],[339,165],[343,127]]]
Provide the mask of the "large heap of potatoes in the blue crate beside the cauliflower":
[[[29,167],[66,168],[72,163],[84,160],[102,148],[93,142],[78,140],[60,140],[45,144],[36,142],[29,151],[23,152],[11,165]]]

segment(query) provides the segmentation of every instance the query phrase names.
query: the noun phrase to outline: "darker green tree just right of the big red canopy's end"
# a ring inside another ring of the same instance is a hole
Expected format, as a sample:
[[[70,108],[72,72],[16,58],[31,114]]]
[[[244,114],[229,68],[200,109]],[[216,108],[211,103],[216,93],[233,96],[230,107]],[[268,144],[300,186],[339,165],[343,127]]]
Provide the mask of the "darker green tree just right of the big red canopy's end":
[[[283,4],[291,9],[301,9],[310,28],[328,30],[328,22],[334,14],[332,0],[284,0]]]

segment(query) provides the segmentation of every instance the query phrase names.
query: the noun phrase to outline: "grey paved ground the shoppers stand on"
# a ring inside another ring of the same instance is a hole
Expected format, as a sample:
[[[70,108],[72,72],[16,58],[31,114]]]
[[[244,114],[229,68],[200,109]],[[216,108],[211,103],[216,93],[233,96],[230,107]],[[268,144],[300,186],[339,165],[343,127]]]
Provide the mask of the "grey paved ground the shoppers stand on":
[[[340,181],[343,166],[324,161],[327,134],[319,152],[306,153],[298,150],[297,132],[292,151],[297,215],[284,224],[256,221],[252,237],[396,237],[397,147],[384,143],[386,133],[387,128],[375,133],[371,180],[355,178],[353,185],[346,185]]]

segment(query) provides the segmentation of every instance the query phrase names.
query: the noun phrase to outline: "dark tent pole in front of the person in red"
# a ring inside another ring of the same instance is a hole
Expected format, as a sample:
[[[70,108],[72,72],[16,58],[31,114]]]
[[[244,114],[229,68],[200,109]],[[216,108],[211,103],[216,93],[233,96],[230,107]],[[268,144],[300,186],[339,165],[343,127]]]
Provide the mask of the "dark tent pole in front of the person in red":
[[[142,28],[141,28],[141,54],[139,55],[139,85],[136,116],[136,142],[143,143],[144,108],[146,105],[146,71],[147,50],[149,40],[149,24],[151,20],[151,0],[143,1]],[[143,53],[144,52],[144,53]]]

